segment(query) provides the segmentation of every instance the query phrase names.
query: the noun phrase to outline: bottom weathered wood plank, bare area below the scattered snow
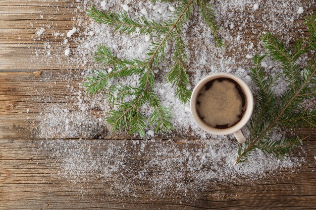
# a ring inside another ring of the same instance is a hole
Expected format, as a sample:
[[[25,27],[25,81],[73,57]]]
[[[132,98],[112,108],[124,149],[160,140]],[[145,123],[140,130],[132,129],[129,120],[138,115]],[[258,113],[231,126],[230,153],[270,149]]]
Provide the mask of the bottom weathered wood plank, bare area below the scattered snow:
[[[194,195],[192,192],[184,196],[167,191],[163,197],[152,194],[150,186],[135,189],[125,196],[110,196],[111,183],[121,180],[95,179],[97,174],[91,174],[91,180],[85,183],[73,185],[70,180],[58,175],[63,166],[59,165],[60,160],[51,157],[49,151],[38,150],[40,141],[0,140],[2,209],[307,209],[316,205],[315,141],[306,142],[306,163],[298,172],[283,170],[282,174],[276,173],[256,184],[243,181],[236,184],[210,183],[208,190]],[[101,141],[106,142],[97,151],[106,150],[110,143],[120,145],[118,140]],[[135,154],[134,166],[141,167],[146,157],[137,156],[137,151],[131,149],[137,149],[132,141],[125,142],[127,153]],[[155,143],[151,144],[154,147]],[[179,148],[190,147],[190,144],[179,144]]]

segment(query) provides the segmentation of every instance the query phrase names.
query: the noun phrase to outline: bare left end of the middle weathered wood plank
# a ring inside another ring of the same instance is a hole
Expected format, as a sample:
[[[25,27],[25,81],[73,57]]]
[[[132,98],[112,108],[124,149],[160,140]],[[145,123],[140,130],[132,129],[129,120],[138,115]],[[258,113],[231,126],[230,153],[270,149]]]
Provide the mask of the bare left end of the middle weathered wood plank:
[[[0,75],[2,138],[32,136],[45,106],[52,103],[63,104],[65,101],[71,104],[75,96],[67,85],[78,89],[80,83],[75,77],[76,74],[68,71],[10,72]],[[66,77],[67,80],[63,80]]]

